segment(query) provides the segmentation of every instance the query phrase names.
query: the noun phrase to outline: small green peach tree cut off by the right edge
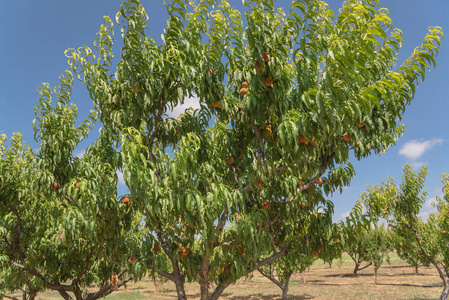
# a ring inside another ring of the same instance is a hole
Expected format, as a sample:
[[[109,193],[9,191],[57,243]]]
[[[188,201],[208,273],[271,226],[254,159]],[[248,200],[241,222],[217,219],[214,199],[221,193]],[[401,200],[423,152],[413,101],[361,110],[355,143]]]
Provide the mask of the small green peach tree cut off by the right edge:
[[[419,212],[426,201],[427,192],[424,184],[427,167],[414,172],[408,164],[404,167],[404,175],[400,185],[394,180],[383,181],[381,186],[368,186],[363,195],[364,203],[378,216],[390,222],[390,227],[403,240],[403,246],[416,245],[416,248],[403,248],[404,252],[418,251],[423,264],[432,264],[443,281],[440,299],[449,295],[449,264],[447,243],[448,218],[448,175],[442,175],[443,198],[437,197],[437,211],[429,215],[427,221],[421,219]],[[409,253],[413,256],[415,254]]]

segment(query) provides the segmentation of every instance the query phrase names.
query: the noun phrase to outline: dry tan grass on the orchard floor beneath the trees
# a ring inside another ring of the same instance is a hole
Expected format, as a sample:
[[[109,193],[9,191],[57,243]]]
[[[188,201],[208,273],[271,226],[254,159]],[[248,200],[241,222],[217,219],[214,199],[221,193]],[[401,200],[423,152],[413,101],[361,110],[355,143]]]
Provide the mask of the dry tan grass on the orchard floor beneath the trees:
[[[391,265],[385,264],[378,272],[378,285],[374,284],[374,269],[369,267],[352,275],[352,261],[345,257],[335,262],[332,268],[322,262],[315,263],[306,271],[301,283],[301,275],[295,274],[290,281],[289,299],[438,299],[442,291],[442,282],[433,268],[420,268],[415,275],[413,268],[407,266],[396,256]],[[240,280],[229,286],[221,299],[280,299],[281,290],[257,272],[249,281]],[[199,299],[199,285],[187,284],[188,299]],[[46,292],[38,299],[56,299],[58,294]],[[177,299],[174,284],[167,282],[157,286],[153,280],[145,278],[128,284],[112,295],[106,297],[116,299]]]

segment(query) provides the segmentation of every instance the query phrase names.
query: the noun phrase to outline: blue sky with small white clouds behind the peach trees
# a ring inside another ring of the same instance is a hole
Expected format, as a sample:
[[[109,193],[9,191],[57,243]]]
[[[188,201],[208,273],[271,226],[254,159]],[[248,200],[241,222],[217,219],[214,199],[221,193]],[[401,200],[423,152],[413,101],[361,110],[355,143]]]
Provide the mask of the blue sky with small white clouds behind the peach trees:
[[[42,82],[52,86],[68,68],[64,50],[82,45],[92,46],[103,21],[103,15],[115,19],[121,0],[57,0],[4,1],[0,10],[0,132],[8,137],[21,132],[32,148],[31,122],[34,106],[38,104],[36,88]],[[337,12],[342,0],[328,0],[330,8]],[[148,15],[151,35],[160,43],[167,13],[160,0],[142,0]],[[231,5],[244,9],[241,0],[230,0]],[[287,9],[291,0],[278,1],[279,7]],[[382,7],[390,11],[394,26],[404,33],[404,45],[399,63],[420,45],[428,26],[441,26],[449,33],[449,1],[447,0],[381,0]],[[118,29],[115,26],[116,30]],[[117,36],[117,45],[119,37]],[[335,195],[335,220],[352,208],[358,195],[367,184],[379,184],[393,176],[399,183],[402,168],[409,163],[418,170],[426,164],[429,175],[426,189],[429,199],[422,215],[432,211],[430,202],[442,195],[441,173],[449,173],[448,121],[449,121],[449,48],[444,40],[437,58],[437,68],[426,76],[419,86],[415,99],[404,114],[405,134],[396,147],[384,155],[371,156],[360,162],[353,160],[357,176],[342,195]],[[119,45],[117,46],[119,47]],[[119,53],[116,48],[115,53]],[[81,121],[92,109],[83,84],[75,82],[72,102],[79,107]],[[96,132],[98,131],[98,126]],[[91,138],[96,136],[96,132]],[[87,143],[80,145],[81,154]],[[125,189],[120,188],[121,192]]]

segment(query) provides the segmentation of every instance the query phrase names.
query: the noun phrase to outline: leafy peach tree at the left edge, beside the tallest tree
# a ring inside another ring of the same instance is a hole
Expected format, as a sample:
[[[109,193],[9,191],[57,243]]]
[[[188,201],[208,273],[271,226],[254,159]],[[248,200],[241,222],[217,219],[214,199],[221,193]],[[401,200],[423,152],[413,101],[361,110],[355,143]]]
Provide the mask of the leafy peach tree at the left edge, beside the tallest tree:
[[[75,126],[72,73],[60,79],[55,89],[38,89],[37,153],[19,134],[9,145],[0,139],[0,292],[20,288],[34,299],[50,289],[64,299],[98,299],[133,279],[124,253],[139,222],[117,197],[115,169],[99,160],[101,141],[74,155],[96,113]],[[92,284],[99,290],[89,292]]]

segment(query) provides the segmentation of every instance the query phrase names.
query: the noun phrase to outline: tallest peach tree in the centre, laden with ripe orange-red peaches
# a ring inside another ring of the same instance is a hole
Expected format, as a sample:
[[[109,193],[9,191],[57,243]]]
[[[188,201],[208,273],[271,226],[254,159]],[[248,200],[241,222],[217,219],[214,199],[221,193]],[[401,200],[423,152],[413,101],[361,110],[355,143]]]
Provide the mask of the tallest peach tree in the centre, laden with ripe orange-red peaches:
[[[132,272],[172,280],[179,299],[193,281],[217,299],[286,256],[273,228],[349,184],[351,153],[395,143],[442,38],[429,28],[395,71],[402,34],[377,1],[346,1],[337,17],[323,1],[244,3],[245,22],[226,1],[166,1],[158,44],[142,5],[127,1],[116,65],[107,17],[95,50],[66,52],[104,126],[98,159],[123,171],[130,210],[144,216]],[[200,109],[167,115],[188,98]]]

